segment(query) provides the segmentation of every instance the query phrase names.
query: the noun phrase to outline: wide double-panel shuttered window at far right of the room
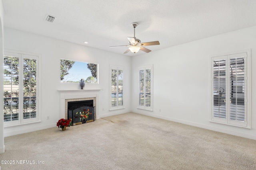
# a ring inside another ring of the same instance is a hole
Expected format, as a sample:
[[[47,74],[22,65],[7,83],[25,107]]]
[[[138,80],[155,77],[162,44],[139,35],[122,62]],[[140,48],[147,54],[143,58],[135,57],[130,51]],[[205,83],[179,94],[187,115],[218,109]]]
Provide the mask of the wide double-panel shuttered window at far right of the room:
[[[210,58],[210,121],[250,128],[249,51]]]

